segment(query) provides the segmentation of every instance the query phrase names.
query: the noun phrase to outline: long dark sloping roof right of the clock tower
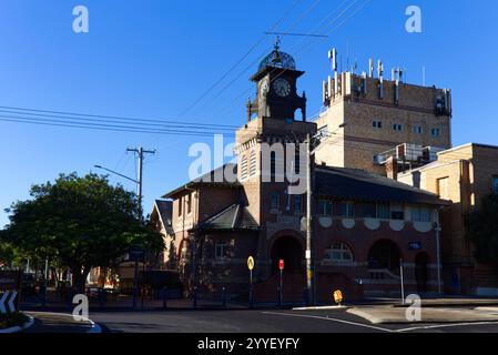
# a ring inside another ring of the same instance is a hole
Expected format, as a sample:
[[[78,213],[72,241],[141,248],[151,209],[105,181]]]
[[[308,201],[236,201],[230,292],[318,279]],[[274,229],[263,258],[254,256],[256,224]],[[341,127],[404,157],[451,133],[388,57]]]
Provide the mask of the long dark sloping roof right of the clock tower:
[[[364,170],[319,166],[315,194],[370,202],[447,205],[438,195]]]

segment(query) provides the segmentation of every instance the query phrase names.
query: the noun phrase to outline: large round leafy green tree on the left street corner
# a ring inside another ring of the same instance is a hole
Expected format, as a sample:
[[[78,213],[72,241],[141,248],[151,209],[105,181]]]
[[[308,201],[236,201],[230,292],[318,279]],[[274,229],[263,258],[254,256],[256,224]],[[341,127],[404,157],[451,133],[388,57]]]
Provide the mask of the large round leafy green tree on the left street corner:
[[[164,248],[160,234],[139,217],[136,196],[106,176],[75,173],[33,185],[31,200],[12,204],[0,242],[26,258],[50,258],[68,267],[81,292],[92,267],[110,267],[131,246]]]

